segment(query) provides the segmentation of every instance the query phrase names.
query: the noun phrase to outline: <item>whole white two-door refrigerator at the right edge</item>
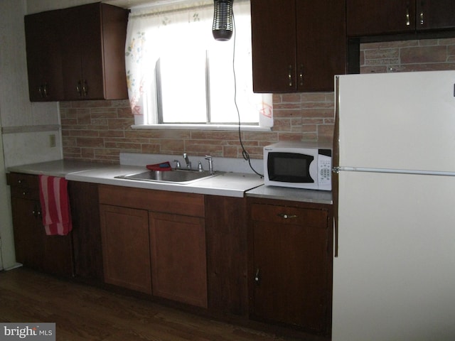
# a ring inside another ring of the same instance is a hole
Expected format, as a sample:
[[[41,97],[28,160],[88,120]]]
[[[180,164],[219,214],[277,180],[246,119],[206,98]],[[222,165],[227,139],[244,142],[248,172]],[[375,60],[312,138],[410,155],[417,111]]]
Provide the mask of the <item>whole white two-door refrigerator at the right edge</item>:
[[[453,341],[455,71],[335,84],[332,340]]]

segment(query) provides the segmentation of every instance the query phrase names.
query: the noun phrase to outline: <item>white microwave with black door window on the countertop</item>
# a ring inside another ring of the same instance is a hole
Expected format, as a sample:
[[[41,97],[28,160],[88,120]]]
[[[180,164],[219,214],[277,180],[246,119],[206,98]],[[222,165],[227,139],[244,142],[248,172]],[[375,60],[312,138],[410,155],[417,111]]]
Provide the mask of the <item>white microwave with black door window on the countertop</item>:
[[[329,144],[279,142],[264,147],[264,184],[309,190],[331,190]]]

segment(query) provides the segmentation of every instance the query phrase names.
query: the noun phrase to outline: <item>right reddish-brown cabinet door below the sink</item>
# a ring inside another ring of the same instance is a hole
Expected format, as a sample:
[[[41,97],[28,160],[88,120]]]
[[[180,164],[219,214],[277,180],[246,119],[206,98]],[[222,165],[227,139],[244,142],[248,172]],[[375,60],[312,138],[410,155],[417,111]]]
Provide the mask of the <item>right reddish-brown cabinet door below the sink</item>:
[[[204,220],[150,212],[154,296],[207,308]]]

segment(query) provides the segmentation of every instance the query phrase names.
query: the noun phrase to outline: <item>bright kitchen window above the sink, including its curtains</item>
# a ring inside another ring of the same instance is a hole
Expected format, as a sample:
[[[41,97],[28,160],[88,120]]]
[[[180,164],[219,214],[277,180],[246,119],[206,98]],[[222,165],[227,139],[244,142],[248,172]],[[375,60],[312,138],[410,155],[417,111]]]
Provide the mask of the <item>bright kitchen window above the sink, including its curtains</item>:
[[[272,126],[272,96],[252,92],[250,1],[235,1],[235,34],[212,36],[210,6],[132,11],[126,65],[136,126]],[[237,111],[238,108],[238,111]]]

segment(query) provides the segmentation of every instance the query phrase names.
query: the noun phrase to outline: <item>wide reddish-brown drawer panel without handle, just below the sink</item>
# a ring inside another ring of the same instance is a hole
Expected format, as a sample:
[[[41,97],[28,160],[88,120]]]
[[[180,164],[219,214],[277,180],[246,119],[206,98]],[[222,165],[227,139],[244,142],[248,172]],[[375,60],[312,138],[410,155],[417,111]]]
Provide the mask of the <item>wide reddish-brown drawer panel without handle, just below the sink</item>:
[[[204,217],[204,195],[100,185],[100,204]]]

